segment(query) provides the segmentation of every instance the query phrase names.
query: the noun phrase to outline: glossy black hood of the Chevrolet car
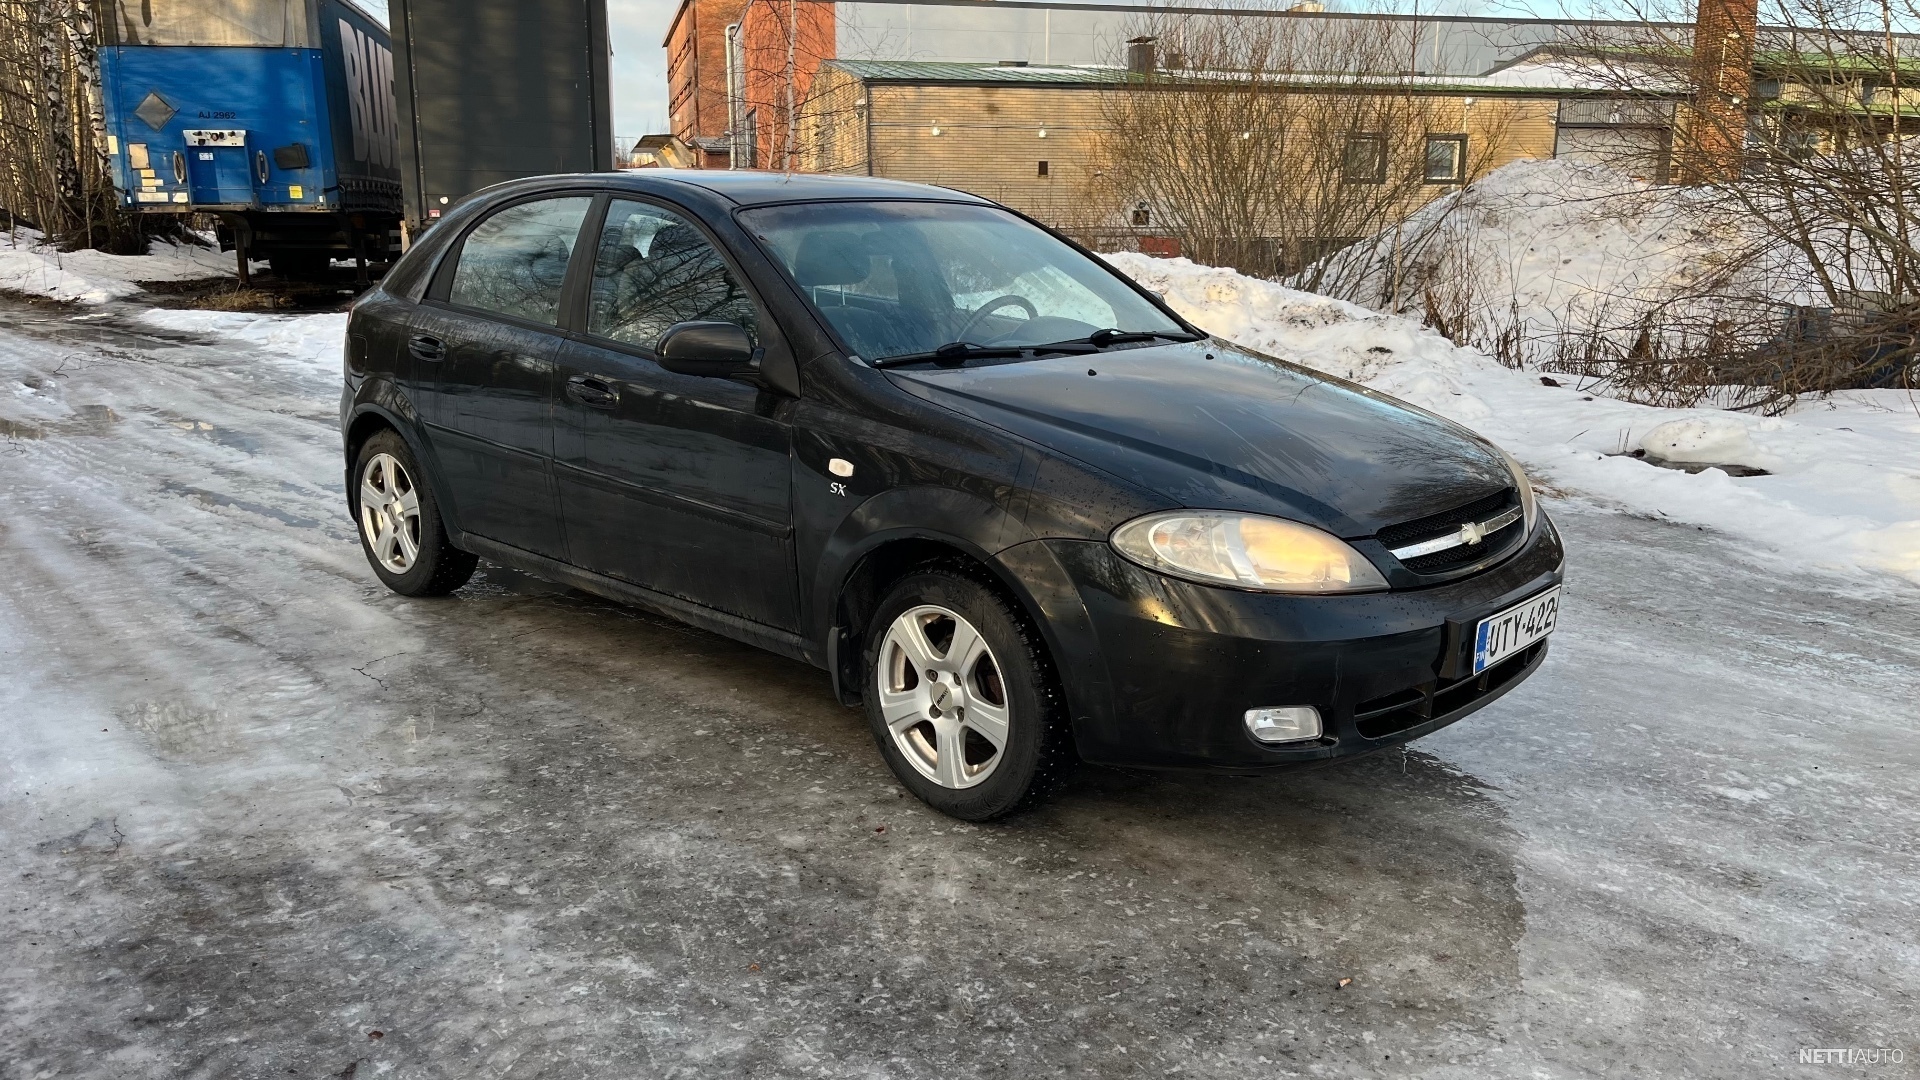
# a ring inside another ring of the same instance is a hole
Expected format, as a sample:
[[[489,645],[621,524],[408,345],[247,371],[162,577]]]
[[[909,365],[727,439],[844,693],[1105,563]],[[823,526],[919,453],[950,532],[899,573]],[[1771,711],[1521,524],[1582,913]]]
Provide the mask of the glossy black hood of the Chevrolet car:
[[[1513,486],[1467,429],[1221,340],[887,375],[1173,505],[1350,540]]]

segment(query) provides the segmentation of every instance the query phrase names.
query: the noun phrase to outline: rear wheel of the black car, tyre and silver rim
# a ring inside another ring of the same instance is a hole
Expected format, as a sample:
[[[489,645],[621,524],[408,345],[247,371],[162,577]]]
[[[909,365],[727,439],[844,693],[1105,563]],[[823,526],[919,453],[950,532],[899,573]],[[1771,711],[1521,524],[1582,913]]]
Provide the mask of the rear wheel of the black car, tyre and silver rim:
[[[445,596],[480,563],[447,542],[440,505],[407,440],[392,429],[361,446],[353,511],[367,563],[401,596]]]

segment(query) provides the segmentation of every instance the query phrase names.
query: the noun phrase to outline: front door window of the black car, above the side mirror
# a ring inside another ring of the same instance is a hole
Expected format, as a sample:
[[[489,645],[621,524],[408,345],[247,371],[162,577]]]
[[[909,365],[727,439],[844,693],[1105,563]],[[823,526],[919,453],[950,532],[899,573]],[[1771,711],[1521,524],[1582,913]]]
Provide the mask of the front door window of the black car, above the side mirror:
[[[588,332],[655,348],[674,323],[733,323],[758,340],[753,298],[685,217],[624,198],[607,208]]]

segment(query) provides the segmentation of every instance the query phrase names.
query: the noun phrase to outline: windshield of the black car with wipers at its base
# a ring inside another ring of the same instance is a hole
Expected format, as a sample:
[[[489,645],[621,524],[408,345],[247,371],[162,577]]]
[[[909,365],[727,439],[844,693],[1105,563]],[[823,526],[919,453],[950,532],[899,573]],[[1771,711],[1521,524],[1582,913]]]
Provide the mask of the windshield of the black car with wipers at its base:
[[[991,206],[824,202],[741,217],[870,361],[1190,336],[1106,265]]]

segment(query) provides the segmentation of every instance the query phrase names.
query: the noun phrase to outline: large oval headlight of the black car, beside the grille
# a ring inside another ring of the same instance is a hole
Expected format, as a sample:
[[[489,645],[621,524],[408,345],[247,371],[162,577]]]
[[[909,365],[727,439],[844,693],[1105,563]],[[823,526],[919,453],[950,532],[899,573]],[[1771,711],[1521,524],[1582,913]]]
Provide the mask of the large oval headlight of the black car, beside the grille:
[[[1260,592],[1371,592],[1386,578],[1344,540],[1296,521],[1175,509],[1114,530],[1114,548],[1146,569]]]

